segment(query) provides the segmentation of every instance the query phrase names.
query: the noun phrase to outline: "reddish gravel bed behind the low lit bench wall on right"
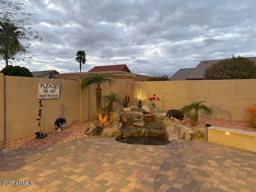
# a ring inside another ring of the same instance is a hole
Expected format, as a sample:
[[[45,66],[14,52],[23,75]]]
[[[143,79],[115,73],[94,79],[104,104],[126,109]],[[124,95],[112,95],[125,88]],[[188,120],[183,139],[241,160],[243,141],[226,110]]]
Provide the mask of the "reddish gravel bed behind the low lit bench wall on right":
[[[183,120],[180,121],[181,124],[192,127],[190,123],[190,119],[188,117],[184,117]],[[214,119],[209,117],[199,117],[198,124],[195,127],[205,127],[206,124],[210,124],[211,126],[225,127],[230,129],[239,129],[244,131],[253,131],[256,132],[256,129],[250,128],[247,122],[245,121],[233,121],[233,120],[224,120],[224,119]],[[192,127],[194,128],[194,127]]]

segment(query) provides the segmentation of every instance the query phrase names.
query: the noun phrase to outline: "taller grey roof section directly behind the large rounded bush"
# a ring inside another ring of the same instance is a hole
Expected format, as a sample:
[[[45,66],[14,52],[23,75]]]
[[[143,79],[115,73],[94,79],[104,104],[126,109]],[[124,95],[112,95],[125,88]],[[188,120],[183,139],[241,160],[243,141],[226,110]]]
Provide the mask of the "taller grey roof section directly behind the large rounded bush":
[[[256,64],[256,57],[247,57],[249,60],[254,61]],[[218,59],[218,60],[206,60],[201,61],[196,68],[187,76],[186,79],[203,79],[204,71],[211,65],[216,64],[225,59]]]

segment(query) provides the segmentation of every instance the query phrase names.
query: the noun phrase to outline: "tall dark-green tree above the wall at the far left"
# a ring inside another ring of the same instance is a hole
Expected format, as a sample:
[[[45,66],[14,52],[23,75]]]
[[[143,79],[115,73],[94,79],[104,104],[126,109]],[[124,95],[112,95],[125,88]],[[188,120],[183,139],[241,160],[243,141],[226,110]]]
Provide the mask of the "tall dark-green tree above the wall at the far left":
[[[8,60],[14,60],[17,54],[28,52],[25,46],[19,42],[19,38],[25,34],[11,24],[9,20],[0,22],[0,26],[0,58],[4,59],[6,66],[8,66]]]

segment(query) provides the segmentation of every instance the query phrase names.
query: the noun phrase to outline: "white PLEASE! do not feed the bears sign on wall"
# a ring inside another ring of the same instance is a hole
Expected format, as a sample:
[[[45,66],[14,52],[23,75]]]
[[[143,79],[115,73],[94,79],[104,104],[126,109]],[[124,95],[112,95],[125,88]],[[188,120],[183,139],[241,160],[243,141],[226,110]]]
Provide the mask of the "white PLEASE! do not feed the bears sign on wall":
[[[38,83],[38,99],[59,99],[60,84]]]

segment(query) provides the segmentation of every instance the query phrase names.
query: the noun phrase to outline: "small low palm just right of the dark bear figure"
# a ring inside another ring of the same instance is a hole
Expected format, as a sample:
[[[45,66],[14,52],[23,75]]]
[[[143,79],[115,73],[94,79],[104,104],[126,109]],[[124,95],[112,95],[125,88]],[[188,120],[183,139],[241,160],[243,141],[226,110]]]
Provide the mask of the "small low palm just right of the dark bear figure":
[[[208,108],[207,106],[203,105],[202,103],[206,101],[194,101],[190,105],[186,105],[181,108],[183,114],[186,114],[191,120],[193,125],[196,124],[198,121],[198,111],[203,110],[206,115],[212,114],[212,109]],[[194,110],[194,115],[191,115],[190,112]]]

